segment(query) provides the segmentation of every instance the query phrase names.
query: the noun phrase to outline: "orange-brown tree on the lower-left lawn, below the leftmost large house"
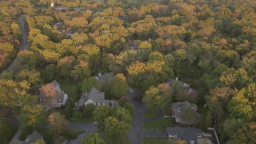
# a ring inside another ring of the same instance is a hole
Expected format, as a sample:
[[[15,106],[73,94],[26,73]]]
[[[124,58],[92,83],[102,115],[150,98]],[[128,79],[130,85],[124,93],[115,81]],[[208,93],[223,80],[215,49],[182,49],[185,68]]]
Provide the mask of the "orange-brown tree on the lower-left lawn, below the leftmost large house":
[[[51,113],[48,122],[49,131],[54,136],[59,136],[63,131],[68,130],[68,121],[60,112]]]

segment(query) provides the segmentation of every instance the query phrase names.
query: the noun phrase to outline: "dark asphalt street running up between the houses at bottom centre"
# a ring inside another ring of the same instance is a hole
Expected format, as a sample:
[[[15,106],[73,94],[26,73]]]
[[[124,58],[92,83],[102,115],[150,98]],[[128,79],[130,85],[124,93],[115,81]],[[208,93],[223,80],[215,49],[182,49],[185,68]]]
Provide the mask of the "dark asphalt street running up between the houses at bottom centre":
[[[142,139],[142,117],[146,110],[146,106],[143,103],[134,101],[136,95],[141,94],[140,92],[131,92],[127,94],[127,97],[131,99],[131,103],[135,106],[135,113],[132,119],[132,128],[128,133],[131,144],[140,144]]]

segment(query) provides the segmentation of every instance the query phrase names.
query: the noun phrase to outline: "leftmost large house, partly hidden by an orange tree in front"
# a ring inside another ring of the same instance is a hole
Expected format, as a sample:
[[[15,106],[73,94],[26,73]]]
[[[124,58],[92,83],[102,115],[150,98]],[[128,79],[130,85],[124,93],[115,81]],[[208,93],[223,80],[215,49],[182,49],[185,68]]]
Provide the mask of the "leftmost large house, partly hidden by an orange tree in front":
[[[61,90],[60,83],[54,80],[53,82],[48,83],[48,86],[50,91],[54,91],[53,95],[50,95],[50,99],[49,97],[46,98],[46,93],[48,90],[41,90],[39,92],[39,103],[43,107],[65,106],[67,103],[68,95]]]

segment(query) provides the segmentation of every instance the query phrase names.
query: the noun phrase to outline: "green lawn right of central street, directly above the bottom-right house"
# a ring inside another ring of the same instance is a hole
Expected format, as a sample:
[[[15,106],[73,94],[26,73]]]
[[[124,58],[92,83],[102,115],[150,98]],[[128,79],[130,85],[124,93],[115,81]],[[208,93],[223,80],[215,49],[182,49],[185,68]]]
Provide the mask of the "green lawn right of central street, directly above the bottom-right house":
[[[165,131],[167,127],[174,127],[173,119],[170,117],[162,117],[155,121],[143,123],[144,130]]]

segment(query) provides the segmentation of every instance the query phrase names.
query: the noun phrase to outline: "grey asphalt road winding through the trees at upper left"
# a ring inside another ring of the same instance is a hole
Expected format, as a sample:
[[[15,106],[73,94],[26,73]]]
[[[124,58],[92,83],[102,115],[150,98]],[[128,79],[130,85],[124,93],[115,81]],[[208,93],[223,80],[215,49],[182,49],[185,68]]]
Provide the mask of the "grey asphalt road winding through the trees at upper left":
[[[27,50],[28,47],[29,47],[29,44],[26,44],[26,41],[27,41],[27,36],[28,36],[28,33],[26,31],[26,28],[25,28],[25,24],[24,24],[24,19],[25,19],[25,15],[21,15],[19,16],[18,20],[20,22],[20,27],[22,29],[21,33],[22,33],[22,39],[20,41],[20,49],[19,51],[22,51],[22,50]],[[8,69],[4,70],[4,72],[11,72],[13,71],[14,67],[16,64],[18,64],[19,62],[19,58],[16,57],[13,61],[13,63],[11,63],[11,65],[9,66]]]

